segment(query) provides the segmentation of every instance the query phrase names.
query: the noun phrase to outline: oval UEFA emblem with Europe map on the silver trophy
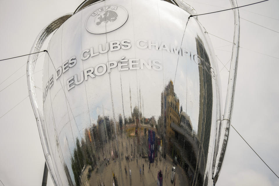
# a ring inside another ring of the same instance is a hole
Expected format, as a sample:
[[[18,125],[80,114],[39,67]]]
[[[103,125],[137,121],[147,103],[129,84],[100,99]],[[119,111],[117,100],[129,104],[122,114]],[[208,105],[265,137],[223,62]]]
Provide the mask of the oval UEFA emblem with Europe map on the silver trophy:
[[[94,10],[86,19],[86,30],[103,34],[116,30],[128,19],[128,12],[119,5],[107,5]]]

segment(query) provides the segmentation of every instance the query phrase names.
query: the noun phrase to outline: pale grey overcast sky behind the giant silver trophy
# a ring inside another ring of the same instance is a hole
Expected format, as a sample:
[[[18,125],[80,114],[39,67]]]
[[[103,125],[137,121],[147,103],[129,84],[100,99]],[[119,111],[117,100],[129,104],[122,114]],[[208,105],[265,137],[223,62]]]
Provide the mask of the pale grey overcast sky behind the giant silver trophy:
[[[0,0],[0,59],[29,53],[37,34],[44,26],[61,15],[74,12],[82,2],[83,0]],[[186,2],[198,14],[230,8],[228,0]],[[254,2],[257,1],[242,0],[238,2],[238,6]],[[240,20],[242,48],[239,49],[232,112],[232,125],[276,174],[279,174],[278,7],[277,0],[270,0],[239,9],[240,17],[243,18]],[[208,33],[232,42],[232,10],[201,15],[198,19]],[[220,71],[223,68],[221,62],[226,64],[231,58],[232,44],[212,35],[210,38],[219,58],[217,61]],[[27,58],[0,61],[0,179],[5,186],[41,185],[42,182],[44,155],[30,99],[27,97],[27,81],[26,75],[24,76]],[[229,69],[229,66],[230,63],[226,68]],[[16,71],[19,67],[22,68]],[[220,73],[223,106],[229,74],[226,68]],[[11,74],[13,75],[3,82]],[[22,102],[19,103],[20,101]],[[15,105],[17,106],[13,108]],[[10,109],[12,110],[8,112]],[[6,112],[8,113],[4,115]],[[48,185],[52,185],[49,179]],[[279,179],[231,128],[218,185],[269,186],[279,185]]]

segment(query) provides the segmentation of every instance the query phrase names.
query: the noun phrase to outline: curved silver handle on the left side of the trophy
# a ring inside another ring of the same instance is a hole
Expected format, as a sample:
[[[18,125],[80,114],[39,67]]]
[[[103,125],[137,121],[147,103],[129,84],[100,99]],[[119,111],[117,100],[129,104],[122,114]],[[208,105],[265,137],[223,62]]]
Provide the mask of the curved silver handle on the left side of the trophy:
[[[47,37],[55,31],[59,26],[61,26],[69,17],[71,17],[73,13],[65,14],[55,20],[53,20],[51,23],[49,23],[42,31],[38,34],[30,53],[39,52],[42,48],[42,45],[44,44],[44,41],[47,39]],[[47,138],[45,133],[45,123],[44,123],[44,115],[42,113],[42,110],[39,106],[38,100],[37,100],[37,94],[35,91],[35,83],[34,83],[34,69],[36,65],[36,61],[38,58],[38,53],[29,55],[28,61],[27,61],[27,85],[28,85],[28,92],[29,97],[31,101],[31,105],[37,120],[37,126],[41,138],[41,143],[44,151],[44,156],[46,159],[47,167],[49,171],[51,172],[51,178],[53,180],[54,185],[58,185],[57,177],[54,177],[56,175],[54,165],[52,162],[52,158],[49,152],[49,146],[47,144]]]

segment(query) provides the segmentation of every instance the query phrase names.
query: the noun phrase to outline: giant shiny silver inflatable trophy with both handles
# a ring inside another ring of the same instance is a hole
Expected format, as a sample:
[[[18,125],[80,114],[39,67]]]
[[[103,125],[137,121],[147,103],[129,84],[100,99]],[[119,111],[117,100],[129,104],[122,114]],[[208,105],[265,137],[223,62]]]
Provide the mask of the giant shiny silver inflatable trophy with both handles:
[[[215,185],[235,89],[234,14],[223,117],[214,51],[183,0],[87,0],[46,26],[31,49],[40,51],[55,31],[42,109],[34,89],[37,54],[28,58],[27,78],[53,183]]]

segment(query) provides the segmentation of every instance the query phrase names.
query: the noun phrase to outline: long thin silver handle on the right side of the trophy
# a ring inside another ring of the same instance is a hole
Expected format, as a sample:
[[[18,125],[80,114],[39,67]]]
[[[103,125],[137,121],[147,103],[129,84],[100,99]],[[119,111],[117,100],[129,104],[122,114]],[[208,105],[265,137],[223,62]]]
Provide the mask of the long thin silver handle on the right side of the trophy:
[[[236,0],[231,0],[231,4],[232,4],[232,8],[237,7]],[[238,8],[233,9],[233,12],[235,18],[235,29],[234,29],[234,37],[233,37],[232,60],[230,64],[230,75],[228,81],[225,110],[223,114],[223,119],[217,122],[217,127],[216,127],[215,151],[214,151],[214,160],[212,166],[212,179],[214,180],[214,185],[219,177],[223,160],[225,157],[225,153],[226,153],[230,122],[231,122],[233,99],[235,95],[235,82],[236,82],[236,74],[237,74],[238,52],[239,52]]]

